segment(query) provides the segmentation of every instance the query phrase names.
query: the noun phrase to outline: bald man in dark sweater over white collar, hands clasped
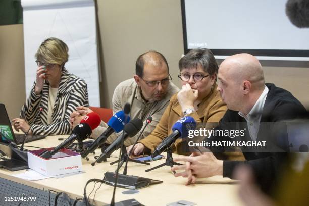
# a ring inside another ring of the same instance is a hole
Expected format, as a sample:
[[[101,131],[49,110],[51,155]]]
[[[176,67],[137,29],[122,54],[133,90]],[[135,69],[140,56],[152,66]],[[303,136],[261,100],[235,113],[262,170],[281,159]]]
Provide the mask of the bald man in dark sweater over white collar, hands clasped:
[[[262,66],[258,59],[250,54],[237,54],[224,60],[219,67],[218,80],[217,90],[228,110],[216,129],[225,129],[228,123],[244,123],[248,136],[241,137],[242,141],[266,139],[273,142],[275,136],[270,134],[277,131],[261,129],[261,122],[280,122],[297,118],[305,112],[304,107],[290,92],[274,84],[265,84]],[[231,125],[228,129],[231,129],[230,127]],[[231,140],[229,136],[215,138],[221,142]],[[210,137],[209,140],[215,138]],[[220,148],[209,149],[222,152]],[[245,163],[252,166],[261,188],[264,191],[270,189],[285,154],[244,152],[244,149],[241,149],[246,161],[218,160],[212,152],[192,153],[190,157],[174,158],[174,161],[185,161],[185,164],[174,166],[172,170],[185,169],[185,172],[177,173],[176,176],[187,177],[186,184],[191,184],[195,183],[196,178],[214,175],[233,178],[235,168]]]

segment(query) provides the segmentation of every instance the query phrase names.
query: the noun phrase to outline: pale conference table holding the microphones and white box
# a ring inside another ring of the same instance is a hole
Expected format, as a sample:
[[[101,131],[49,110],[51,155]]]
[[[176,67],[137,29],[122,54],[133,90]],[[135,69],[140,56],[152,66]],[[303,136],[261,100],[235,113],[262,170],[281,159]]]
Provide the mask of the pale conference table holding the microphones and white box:
[[[53,147],[61,143],[58,138],[66,138],[68,135],[49,136],[45,139],[27,143],[28,146],[37,147]],[[29,150],[35,150],[31,147],[25,147]],[[96,155],[100,153],[100,149],[96,150]],[[11,172],[5,169],[0,169],[0,177],[11,180],[20,184],[24,184],[40,190],[54,190],[61,191],[69,194],[71,199],[82,198],[84,186],[89,179],[97,178],[102,179],[104,173],[107,171],[114,172],[116,165],[110,165],[111,162],[118,159],[118,151],[108,158],[107,162],[97,163],[91,166],[94,161],[94,155],[90,154],[89,161],[82,159],[82,170],[85,171],[81,174],[76,174],[63,178],[48,178],[37,181],[29,181],[14,177],[12,175],[25,172],[25,170]],[[178,155],[173,154],[173,157]],[[214,176],[211,178],[198,179],[195,185],[185,186],[186,178],[174,177],[170,167],[164,166],[162,168],[145,172],[146,169],[155,167],[164,163],[165,159],[150,162],[151,165],[143,165],[138,163],[129,162],[128,175],[136,175],[155,180],[162,180],[163,183],[150,185],[146,188],[140,188],[139,193],[136,194],[122,194],[127,190],[124,188],[116,189],[115,201],[135,198],[144,205],[166,205],[179,200],[186,200],[197,203],[197,205],[242,205],[238,197],[238,183],[229,178]],[[120,173],[123,172],[123,168]],[[96,184],[98,188],[100,183]],[[87,195],[93,189],[94,184],[90,183],[87,186]],[[94,193],[94,192],[93,192]],[[90,202],[93,200],[93,193],[90,196]],[[113,194],[113,187],[102,184],[97,190],[95,195],[94,205],[105,205],[110,203]]]

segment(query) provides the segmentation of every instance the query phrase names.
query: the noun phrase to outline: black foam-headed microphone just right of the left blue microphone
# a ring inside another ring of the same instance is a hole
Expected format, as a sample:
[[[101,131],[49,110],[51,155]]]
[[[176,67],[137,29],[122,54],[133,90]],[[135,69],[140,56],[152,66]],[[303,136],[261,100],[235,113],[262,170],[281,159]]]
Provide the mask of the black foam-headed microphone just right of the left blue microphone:
[[[139,118],[126,124],[123,129],[123,133],[105,150],[104,153],[100,155],[98,159],[96,159],[95,162],[91,163],[91,165],[94,166],[96,162],[102,162],[104,157],[109,157],[115,150],[122,146],[122,142],[124,142],[128,137],[135,136],[142,126],[143,122]]]

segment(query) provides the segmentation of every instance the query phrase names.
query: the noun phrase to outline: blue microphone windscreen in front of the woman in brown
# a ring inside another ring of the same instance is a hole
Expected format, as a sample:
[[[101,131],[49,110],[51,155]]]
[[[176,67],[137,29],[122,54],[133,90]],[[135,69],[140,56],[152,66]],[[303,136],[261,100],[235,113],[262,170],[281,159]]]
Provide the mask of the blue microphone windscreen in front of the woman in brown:
[[[172,127],[172,131],[178,130],[181,137],[187,137],[189,130],[194,130],[196,127],[196,122],[193,117],[183,117],[180,118]]]

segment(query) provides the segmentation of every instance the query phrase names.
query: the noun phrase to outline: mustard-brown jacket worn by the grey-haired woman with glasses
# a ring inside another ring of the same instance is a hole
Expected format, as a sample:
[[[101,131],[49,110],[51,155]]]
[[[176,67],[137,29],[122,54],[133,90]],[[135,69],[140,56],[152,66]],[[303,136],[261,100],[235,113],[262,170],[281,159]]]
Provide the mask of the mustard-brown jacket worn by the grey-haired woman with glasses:
[[[197,111],[190,114],[196,122],[219,122],[227,110],[226,104],[222,101],[220,93],[217,91],[215,84],[211,93],[202,99],[198,105]],[[181,106],[177,100],[177,93],[174,94],[168,107],[164,111],[159,124],[155,130],[151,132],[146,138],[139,142],[149,148],[151,152],[162,142],[164,138],[172,133],[172,127],[179,118],[183,117]],[[181,138],[178,138],[172,147],[174,153],[184,154],[181,146]]]

